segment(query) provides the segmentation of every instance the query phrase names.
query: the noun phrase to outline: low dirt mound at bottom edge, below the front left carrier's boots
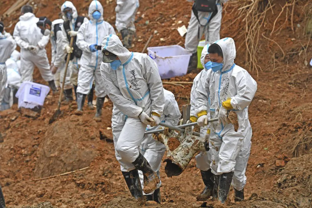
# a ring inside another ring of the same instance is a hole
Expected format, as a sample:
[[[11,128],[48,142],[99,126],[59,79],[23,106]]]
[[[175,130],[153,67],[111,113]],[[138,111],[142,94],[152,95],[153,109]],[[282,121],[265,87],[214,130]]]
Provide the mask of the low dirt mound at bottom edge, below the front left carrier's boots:
[[[124,195],[120,195],[106,203],[105,205],[100,206],[100,208],[137,208],[141,207],[140,202],[136,200],[134,197],[125,197]]]

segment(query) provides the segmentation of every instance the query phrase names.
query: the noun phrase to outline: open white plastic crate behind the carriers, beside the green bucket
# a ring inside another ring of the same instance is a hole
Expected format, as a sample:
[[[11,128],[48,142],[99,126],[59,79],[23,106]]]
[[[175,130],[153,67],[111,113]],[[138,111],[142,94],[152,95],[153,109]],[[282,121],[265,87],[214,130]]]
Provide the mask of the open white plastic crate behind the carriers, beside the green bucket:
[[[156,62],[162,79],[183,76],[188,71],[191,53],[178,45],[147,48],[148,55]]]

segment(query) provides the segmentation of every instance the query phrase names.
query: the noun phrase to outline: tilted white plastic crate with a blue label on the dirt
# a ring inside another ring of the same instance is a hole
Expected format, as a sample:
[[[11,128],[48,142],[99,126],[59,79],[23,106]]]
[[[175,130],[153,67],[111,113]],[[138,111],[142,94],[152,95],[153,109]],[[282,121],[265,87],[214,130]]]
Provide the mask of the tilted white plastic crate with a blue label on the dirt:
[[[34,82],[25,81],[17,90],[18,108],[34,108],[38,105],[43,106],[46,95],[49,93],[50,87]]]

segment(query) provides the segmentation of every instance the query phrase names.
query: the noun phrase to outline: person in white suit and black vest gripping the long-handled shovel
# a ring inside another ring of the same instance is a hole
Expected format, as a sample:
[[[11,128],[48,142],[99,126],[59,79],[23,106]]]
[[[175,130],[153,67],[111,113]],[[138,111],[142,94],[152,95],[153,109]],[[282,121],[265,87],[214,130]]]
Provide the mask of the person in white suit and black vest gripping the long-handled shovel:
[[[88,22],[89,20],[86,17],[78,16],[76,7],[70,1],[66,1],[62,4],[61,12],[63,14],[62,18],[64,20],[63,27],[61,27],[62,45],[63,50],[66,53],[71,53],[71,61],[69,64],[71,72],[70,81],[71,84],[74,86],[74,92],[77,100],[78,70],[80,67],[79,64],[82,51],[76,45],[76,36],[82,23]],[[74,37],[73,47],[69,46],[71,37]]]

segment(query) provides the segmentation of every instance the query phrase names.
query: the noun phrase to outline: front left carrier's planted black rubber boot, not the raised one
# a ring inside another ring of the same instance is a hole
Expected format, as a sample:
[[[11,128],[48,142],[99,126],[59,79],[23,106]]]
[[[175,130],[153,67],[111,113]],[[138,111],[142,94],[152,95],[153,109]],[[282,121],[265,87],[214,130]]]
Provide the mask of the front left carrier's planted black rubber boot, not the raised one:
[[[139,178],[139,172],[137,169],[134,169],[130,172],[122,172],[124,180],[129,188],[131,195],[137,199],[143,199],[142,186]]]

